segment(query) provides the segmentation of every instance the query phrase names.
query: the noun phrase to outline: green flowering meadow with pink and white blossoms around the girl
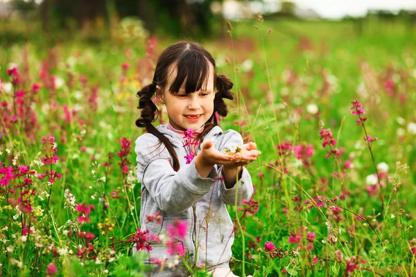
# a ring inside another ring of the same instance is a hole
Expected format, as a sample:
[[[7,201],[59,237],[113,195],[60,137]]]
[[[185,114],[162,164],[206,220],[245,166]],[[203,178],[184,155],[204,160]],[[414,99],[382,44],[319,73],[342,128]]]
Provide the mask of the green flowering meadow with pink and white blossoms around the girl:
[[[0,52],[0,276],[144,276],[155,238],[139,229],[136,93],[176,39],[81,30],[46,47],[36,24],[3,28],[28,39]],[[220,127],[262,152],[252,199],[229,206],[234,274],[415,276],[415,32],[259,17],[227,28],[198,40],[234,82]]]

